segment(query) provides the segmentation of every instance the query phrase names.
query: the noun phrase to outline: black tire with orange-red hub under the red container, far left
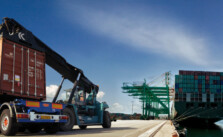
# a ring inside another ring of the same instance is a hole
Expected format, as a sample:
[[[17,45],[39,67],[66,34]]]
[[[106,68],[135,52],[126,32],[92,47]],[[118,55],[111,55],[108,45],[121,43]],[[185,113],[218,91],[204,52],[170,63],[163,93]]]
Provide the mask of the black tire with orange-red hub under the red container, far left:
[[[1,132],[5,136],[14,136],[18,130],[16,119],[10,117],[9,109],[3,110],[0,118]]]

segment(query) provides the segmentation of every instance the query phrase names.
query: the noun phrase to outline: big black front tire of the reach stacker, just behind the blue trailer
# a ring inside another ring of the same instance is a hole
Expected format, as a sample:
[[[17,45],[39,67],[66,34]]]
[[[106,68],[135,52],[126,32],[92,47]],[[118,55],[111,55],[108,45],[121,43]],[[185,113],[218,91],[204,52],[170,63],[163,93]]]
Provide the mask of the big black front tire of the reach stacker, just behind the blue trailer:
[[[76,117],[74,114],[74,111],[72,111],[72,109],[70,108],[65,108],[63,110],[63,115],[68,116],[68,120],[66,123],[62,123],[60,124],[60,130],[61,131],[70,131],[73,129],[73,126],[75,124],[76,121]]]

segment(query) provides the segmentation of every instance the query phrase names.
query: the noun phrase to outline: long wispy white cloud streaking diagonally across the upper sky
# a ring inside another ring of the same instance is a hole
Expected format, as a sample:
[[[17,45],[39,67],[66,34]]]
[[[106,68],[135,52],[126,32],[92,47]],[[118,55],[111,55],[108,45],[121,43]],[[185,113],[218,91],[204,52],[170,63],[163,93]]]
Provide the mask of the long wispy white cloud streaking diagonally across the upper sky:
[[[66,10],[72,13],[67,16],[75,25],[79,22],[95,34],[137,50],[187,60],[197,65],[210,62],[206,38],[171,18],[157,17],[153,12],[134,13],[125,8],[114,12],[69,4]]]

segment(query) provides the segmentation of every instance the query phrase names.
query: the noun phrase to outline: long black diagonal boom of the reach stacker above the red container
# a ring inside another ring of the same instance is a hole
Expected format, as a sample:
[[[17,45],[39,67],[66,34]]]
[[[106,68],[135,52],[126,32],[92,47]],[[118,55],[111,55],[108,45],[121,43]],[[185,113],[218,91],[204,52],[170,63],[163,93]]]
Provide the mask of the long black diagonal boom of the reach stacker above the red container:
[[[0,25],[0,36],[18,44],[44,52],[46,56],[46,64],[60,73],[65,79],[74,83],[78,74],[81,73],[79,83],[85,87],[86,90],[95,87],[95,85],[83,74],[81,69],[69,64],[61,55],[52,50],[14,19],[3,18],[3,23]]]

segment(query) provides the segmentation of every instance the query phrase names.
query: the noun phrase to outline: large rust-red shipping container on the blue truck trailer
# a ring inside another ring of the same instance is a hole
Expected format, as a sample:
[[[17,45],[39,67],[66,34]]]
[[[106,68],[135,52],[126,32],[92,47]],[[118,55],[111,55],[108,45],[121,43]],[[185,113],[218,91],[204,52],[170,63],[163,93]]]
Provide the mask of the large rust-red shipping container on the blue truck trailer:
[[[0,38],[0,94],[44,100],[45,54]]]

